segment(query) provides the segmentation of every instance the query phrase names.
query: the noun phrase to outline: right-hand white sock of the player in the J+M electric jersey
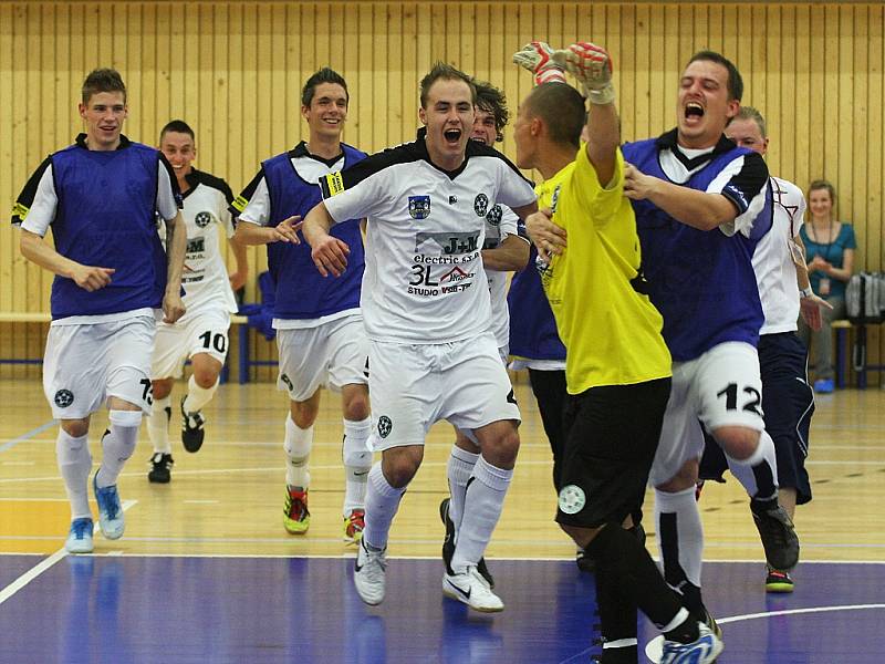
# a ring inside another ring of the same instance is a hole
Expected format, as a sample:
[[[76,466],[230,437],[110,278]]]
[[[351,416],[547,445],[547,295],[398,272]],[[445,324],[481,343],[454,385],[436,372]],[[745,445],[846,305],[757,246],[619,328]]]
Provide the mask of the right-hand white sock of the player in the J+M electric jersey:
[[[451,557],[451,569],[456,574],[476,566],[486,552],[491,533],[501,517],[512,477],[512,469],[492,466],[482,456],[473,466],[473,473],[467,483],[455,554]]]

